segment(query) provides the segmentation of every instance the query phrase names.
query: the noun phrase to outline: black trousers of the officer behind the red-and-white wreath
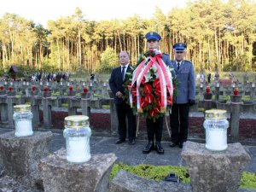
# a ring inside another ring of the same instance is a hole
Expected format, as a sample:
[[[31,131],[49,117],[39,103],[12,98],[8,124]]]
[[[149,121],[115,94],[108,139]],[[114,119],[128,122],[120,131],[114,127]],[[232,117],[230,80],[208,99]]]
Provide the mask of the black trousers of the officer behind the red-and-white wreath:
[[[160,142],[162,139],[163,132],[163,117],[156,119],[155,121],[151,119],[146,119],[147,132],[148,132],[148,142],[154,142],[154,137],[156,142]]]

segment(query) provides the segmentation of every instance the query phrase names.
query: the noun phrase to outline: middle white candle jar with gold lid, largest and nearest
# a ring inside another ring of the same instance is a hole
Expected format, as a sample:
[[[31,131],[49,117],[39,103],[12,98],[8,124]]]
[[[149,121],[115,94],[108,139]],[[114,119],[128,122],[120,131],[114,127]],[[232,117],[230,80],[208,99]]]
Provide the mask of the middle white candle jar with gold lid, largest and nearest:
[[[73,163],[84,163],[90,160],[91,130],[89,118],[84,115],[73,115],[65,118],[67,160]]]

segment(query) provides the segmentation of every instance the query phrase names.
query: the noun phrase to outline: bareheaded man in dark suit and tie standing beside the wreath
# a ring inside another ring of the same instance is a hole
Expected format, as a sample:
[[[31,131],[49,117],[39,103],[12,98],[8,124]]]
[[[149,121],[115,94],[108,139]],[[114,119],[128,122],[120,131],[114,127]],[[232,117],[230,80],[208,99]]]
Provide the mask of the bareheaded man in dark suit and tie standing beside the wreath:
[[[127,89],[123,86],[125,80],[125,73],[131,70],[129,64],[129,55],[126,51],[121,51],[119,54],[119,61],[121,66],[113,69],[109,86],[113,92],[114,103],[119,120],[119,139],[116,144],[125,142],[126,137],[126,116],[128,119],[128,144],[135,144],[136,137],[136,116],[132,112],[132,108],[123,100],[124,90]]]

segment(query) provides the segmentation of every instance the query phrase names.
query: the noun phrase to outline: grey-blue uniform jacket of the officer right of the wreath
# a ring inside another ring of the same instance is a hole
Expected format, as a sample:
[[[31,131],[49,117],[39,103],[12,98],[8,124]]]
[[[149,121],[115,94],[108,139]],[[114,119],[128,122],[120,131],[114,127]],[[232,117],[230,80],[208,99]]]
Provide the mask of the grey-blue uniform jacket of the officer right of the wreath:
[[[190,61],[183,60],[181,66],[177,70],[177,62],[172,61],[174,71],[176,73],[177,98],[174,103],[188,103],[189,100],[195,101],[195,73],[193,64]]]

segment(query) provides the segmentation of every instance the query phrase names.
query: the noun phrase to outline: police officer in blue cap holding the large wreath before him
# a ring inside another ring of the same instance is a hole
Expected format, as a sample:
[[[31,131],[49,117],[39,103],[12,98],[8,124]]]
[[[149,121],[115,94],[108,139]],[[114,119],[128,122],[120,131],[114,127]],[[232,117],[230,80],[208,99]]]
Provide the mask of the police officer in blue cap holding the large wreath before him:
[[[161,39],[157,32],[148,32],[146,34],[148,49],[158,49],[159,41]],[[172,61],[169,55],[163,54],[162,60],[167,66],[172,66]],[[148,132],[148,144],[143,149],[143,154],[148,154],[151,150],[155,149],[158,154],[164,154],[164,148],[161,146],[162,131],[163,131],[163,117],[153,121],[152,119],[146,119],[147,132]],[[155,142],[155,143],[154,143]]]

